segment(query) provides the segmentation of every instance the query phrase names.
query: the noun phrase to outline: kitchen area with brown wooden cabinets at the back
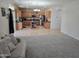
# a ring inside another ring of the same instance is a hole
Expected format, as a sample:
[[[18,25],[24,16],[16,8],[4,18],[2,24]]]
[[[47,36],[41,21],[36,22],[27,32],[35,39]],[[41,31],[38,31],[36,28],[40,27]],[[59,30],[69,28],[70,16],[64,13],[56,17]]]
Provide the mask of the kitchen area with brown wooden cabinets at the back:
[[[24,28],[39,29],[40,27],[50,29],[50,9],[30,9],[17,7],[15,12],[16,30],[21,30]]]

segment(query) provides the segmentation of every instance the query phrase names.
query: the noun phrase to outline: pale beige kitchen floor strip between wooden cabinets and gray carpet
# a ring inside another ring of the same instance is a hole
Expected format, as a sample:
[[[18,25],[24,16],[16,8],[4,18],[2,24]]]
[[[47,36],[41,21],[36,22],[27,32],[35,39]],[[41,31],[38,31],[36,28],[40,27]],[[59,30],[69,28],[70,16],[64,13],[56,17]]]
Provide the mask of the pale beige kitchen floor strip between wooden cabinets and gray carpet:
[[[18,30],[14,33],[16,37],[25,37],[25,36],[39,36],[39,35],[47,35],[51,32],[50,29],[45,29],[43,27],[31,29],[25,28],[23,30]]]

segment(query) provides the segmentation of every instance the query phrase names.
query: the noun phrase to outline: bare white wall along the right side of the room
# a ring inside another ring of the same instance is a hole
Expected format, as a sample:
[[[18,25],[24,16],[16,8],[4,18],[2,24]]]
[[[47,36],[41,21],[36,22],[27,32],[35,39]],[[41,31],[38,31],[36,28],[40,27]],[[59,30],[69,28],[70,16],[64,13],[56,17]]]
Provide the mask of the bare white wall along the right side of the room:
[[[61,32],[79,39],[79,0],[63,7]]]

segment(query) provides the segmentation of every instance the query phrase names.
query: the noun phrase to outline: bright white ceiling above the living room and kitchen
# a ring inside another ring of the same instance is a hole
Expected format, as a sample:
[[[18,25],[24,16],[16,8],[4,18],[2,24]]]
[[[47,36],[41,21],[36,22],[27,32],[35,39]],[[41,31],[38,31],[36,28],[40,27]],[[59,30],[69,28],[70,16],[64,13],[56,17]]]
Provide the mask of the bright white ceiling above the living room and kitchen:
[[[63,6],[75,0],[15,0],[15,4],[24,8],[50,8]]]

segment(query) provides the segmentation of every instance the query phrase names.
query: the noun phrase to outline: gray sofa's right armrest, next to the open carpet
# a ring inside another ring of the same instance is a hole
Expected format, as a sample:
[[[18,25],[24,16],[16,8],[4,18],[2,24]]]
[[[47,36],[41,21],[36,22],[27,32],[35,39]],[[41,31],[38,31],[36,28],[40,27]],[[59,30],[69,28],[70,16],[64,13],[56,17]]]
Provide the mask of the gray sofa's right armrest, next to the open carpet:
[[[20,43],[16,45],[16,49],[11,53],[12,58],[24,58],[26,53],[26,42],[21,40]]]

